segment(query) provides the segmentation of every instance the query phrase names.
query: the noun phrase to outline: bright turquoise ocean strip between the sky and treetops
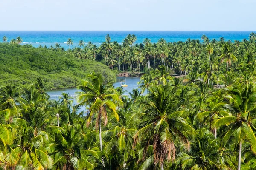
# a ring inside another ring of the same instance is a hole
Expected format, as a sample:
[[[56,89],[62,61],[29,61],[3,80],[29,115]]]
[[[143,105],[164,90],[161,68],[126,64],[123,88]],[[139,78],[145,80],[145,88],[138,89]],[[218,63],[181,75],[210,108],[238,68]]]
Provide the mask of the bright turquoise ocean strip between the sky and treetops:
[[[105,35],[109,34],[111,41],[119,43],[128,35],[135,34],[137,36],[136,43],[142,43],[145,38],[149,38],[151,42],[157,42],[160,38],[164,38],[167,42],[186,41],[190,39],[199,39],[205,34],[210,39],[224,37],[225,40],[243,40],[248,39],[253,31],[0,31],[0,42],[2,37],[6,36],[8,42],[20,36],[23,39],[23,45],[32,44],[35,47],[46,45],[47,47],[55,46],[59,43],[62,47],[68,48],[67,39],[73,39],[73,46],[78,45],[79,40],[85,43],[92,42],[99,46],[105,41]]]

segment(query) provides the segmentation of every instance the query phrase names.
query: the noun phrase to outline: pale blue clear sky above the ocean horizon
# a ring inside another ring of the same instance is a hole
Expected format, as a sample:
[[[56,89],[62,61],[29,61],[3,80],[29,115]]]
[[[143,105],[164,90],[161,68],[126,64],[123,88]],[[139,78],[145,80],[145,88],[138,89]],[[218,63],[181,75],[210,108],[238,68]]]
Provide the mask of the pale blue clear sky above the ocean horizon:
[[[0,1],[0,30],[256,30],[256,0]]]

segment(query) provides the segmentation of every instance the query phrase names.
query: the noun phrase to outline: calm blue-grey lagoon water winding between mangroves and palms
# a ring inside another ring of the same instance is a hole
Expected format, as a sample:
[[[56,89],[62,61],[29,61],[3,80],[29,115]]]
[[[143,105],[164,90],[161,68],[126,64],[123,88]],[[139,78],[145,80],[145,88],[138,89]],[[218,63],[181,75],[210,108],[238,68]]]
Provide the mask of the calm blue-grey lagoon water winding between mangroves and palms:
[[[127,92],[125,92],[125,95],[128,95],[129,92],[131,92],[133,89],[136,89],[139,87],[139,85],[137,84],[137,82],[140,81],[139,77],[117,77],[116,78],[116,83],[113,84],[113,86],[116,87],[121,87],[120,85],[120,81],[125,80],[126,79],[126,84],[128,85],[128,87],[123,87],[124,90],[126,90]],[[75,95],[76,92],[81,91],[78,90],[77,88],[64,88],[64,89],[58,89],[58,90],[51,90],[51,91],[46,91],[47,94],[49,94],[51,96],[50,99],[54,100],[58,100],[59,96],[62,93],[69,93],[70,95]],[[73,100],[73,105],[77,105],[78,102],[76,101],[76,99],[74,98]],[[81,108],[81,110],[85,109],[85,107]]]

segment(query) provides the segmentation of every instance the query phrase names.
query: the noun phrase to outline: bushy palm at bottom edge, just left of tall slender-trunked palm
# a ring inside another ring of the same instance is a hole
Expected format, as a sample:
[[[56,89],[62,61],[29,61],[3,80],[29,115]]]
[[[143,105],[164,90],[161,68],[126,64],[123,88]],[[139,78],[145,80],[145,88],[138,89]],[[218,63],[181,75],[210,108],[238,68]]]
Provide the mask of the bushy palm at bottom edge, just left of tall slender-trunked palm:
[[[54,158],[54,169],[77,170],[82,169],[82,164],[88,169],[93,169],[94,164],[88,161],[86,155],[91,155],[99,159],[96,150],[88,150],[86,146],[87,138],[92,138],[95,131],[84,134],[79,125],[67,125],[64,127],[48,126],[47,130],[53,135],[53,142],[50,145],[49,154]],[[80,168],[79,168],[80,167]]]

